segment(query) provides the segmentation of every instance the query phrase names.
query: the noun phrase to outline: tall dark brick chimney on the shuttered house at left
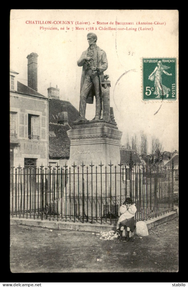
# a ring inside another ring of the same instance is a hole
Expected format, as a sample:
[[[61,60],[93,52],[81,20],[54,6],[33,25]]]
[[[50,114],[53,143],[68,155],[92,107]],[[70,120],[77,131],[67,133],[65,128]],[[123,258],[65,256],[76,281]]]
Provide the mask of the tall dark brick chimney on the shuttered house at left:
[[[28,59],[28,87],[37,91],[37,57],[36,53],[27,56]]]

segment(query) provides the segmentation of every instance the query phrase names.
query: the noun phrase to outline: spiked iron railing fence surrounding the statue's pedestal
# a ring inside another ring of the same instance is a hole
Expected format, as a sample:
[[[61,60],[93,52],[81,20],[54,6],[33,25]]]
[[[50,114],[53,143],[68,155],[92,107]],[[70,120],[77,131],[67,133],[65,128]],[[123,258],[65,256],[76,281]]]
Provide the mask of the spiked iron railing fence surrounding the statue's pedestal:
[[[94,166],[12,168],[12,217],[81,222],[117,222],[126,197],[137,207],[135,220],[173,210],[174,169],[100,163]]]

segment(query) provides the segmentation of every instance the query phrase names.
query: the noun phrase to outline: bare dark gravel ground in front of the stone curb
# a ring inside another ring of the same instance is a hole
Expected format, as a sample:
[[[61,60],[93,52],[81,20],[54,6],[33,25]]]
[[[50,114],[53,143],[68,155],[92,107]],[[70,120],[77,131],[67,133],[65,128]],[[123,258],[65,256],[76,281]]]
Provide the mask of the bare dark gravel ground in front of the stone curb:
[[[134,236],[134,242],[96,234],[11,225],[11,272],[178,272],[178,218],[150,229],[149,236]]]

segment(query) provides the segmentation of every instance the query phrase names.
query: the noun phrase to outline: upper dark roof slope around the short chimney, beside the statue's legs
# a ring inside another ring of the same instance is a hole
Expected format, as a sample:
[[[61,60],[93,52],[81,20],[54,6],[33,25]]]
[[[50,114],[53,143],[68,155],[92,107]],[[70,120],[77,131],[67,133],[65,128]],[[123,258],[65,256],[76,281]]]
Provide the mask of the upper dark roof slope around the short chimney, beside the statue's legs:
[[[52,98],[49,100],[49,122],[57,123],[58,113],[67,112],[68,123],[72,127],[73,121],[79,116],[79,111],[69,102]],[[54,117],[55,119],[54,119]]]

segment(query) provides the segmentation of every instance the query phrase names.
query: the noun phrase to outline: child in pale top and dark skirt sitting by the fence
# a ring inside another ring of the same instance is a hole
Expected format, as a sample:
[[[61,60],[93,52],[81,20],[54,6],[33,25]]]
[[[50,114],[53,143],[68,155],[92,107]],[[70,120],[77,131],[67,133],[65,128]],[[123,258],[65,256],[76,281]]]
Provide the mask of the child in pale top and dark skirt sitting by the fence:
[[[119,217],[119,220],[117,222],[117,231],[120,230],[120,237],[119,237],[120,240],[122,239],[124,227],[126,227],[127,236],[125,240],[132,241],[129,238],[129,233],[130,231],[134,232],[134,229],[135,229],[134,215],[136,211],[137,209],[136,209],[135,203],[133,203],[130,197],[127,197],[127,199],[125,199],[124,203],[120,207],[121,216]]]

